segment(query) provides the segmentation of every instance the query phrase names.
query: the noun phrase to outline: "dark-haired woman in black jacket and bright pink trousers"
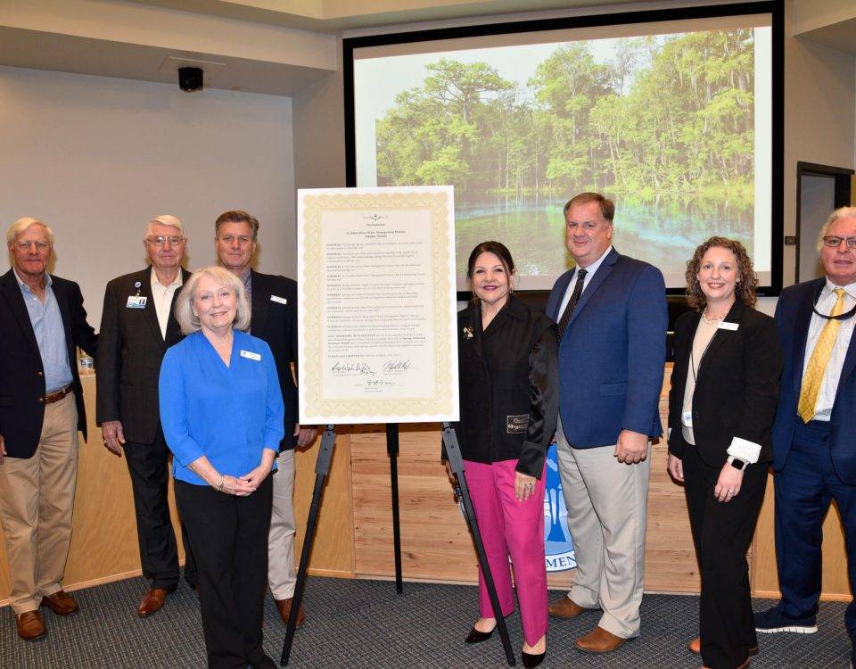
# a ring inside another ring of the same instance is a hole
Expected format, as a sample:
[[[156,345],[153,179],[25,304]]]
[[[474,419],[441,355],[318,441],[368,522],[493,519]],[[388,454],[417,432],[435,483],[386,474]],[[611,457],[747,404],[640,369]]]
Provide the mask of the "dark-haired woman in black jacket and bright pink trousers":
[[[523,666],[547,648],[544,466],[556,432],[558,368],[552,320],[512,294],[514,260],[503,244],[473,249],[467,276],[474,298],[458,313],[461,420],[455,425],[466,482],[503,615],[523,624]],[[467,643],[487,640],[497,621],[479,570],[481,617]]]

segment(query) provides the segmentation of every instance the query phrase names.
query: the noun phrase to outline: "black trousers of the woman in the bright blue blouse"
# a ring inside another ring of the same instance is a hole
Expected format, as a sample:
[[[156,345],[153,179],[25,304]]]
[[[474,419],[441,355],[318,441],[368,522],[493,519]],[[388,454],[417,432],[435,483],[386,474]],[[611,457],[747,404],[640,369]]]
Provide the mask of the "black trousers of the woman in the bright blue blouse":
[[[249,497],[176,481],[176,500],[199,570],[208,666],[276,667],[261,643],[273,502],[270,475]]]

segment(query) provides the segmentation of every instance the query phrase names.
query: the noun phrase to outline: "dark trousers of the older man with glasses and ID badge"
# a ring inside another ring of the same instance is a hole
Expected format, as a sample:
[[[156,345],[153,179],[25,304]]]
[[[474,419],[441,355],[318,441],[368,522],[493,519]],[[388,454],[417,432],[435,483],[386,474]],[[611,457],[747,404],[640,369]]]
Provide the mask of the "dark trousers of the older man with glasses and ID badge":
[[[178,549],[169,517],[169,448],[161,427],[154,442],[127,442],[124,450],[134,490],[143,575],[152,582],[152,588],[174,591],[178,585]],[[195,586],[196,565],[183,522],[181,542],[185,547],[185,578]]]

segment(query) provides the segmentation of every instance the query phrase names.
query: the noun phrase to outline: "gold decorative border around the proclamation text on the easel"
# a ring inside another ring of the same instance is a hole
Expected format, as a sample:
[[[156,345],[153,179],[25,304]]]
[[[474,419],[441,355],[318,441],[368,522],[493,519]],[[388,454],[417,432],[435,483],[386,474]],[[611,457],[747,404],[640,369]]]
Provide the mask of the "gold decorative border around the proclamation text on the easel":
[[[449,254],[455,252],[449,235],[449,213],[451,202],[448,191],[440,192],[393,192],[354,194],[304,194],[302,196],[303,219],[300,235],[303,248],[303,275],[300,285],[302,313],[304,315],[303,350],[300,359],[303,386],[300,396],[305,402],[305,413],[309,417],[321,417],[325,423],[347,420],[354,422],[359,417],[385,417],[389,422],[400,422],[403,418],[425,420],[426,417],[451,416],[457,413],[452,392],[457,380],[457,369],[453,364],[452,346],[457,345],[451,335],[452,314],[449,310]],[[322,300],[321,268],[321,217],[324,211],[378,211],[390,209],[429,210],[431,221],[431,246],[433,261],[432,307],[434,332],[434,396],[430,398],[401,397],[396,399],[325,400],[321,396],[321,318],[324,311]]]

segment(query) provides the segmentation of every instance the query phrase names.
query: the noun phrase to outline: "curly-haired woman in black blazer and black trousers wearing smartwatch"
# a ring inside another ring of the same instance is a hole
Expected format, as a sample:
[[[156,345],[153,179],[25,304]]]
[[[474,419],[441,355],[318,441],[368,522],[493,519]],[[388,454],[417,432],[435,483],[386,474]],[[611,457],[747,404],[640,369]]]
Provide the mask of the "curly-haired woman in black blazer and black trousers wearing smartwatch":
[[[711,237],[687,262],[669,392],[669,473],[685,484],[702,577],[704,667],[742,669],[757,652],[749,567],[772,460],[781,352],[772,318],[753,309],[758,278],[737,241]]]

